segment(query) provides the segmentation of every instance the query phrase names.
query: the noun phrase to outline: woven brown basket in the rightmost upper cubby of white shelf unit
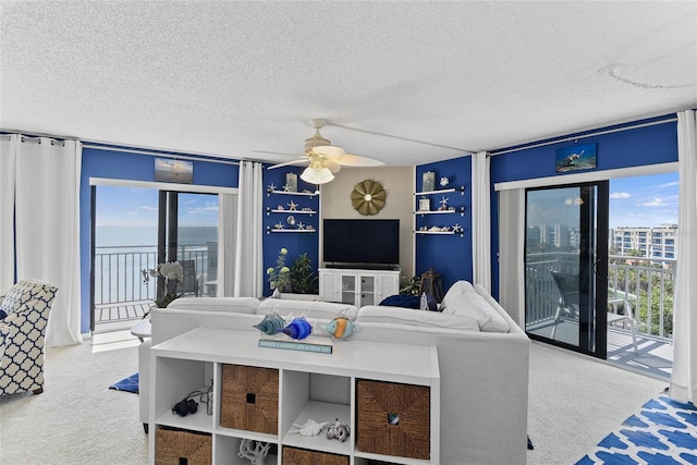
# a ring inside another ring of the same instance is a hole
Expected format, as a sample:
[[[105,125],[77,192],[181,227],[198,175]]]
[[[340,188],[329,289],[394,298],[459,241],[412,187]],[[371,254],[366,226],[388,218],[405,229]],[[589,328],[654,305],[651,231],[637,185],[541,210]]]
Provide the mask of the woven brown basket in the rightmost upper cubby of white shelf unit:
[[[356,395],[359,451],[430,458],[428,387],[358,380]]]

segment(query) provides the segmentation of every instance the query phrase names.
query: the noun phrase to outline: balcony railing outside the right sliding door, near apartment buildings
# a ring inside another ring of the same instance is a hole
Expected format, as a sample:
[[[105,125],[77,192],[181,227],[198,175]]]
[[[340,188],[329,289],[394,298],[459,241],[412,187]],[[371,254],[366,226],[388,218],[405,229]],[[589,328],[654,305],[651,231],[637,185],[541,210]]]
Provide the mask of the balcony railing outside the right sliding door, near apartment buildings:
[[[577,273],[574,253],[529,254],[526,259],[526,325],[554,318],[559,291],[551,271]],[[672,339],[675,260],[610,256],[608,298],[626,296],[634,308],[637,332]]]

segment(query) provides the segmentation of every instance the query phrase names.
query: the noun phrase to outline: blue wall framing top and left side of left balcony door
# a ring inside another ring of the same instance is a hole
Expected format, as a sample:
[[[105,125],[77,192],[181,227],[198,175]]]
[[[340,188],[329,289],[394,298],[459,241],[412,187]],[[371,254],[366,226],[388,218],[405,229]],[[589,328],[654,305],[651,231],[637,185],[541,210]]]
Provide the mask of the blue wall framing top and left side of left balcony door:
[[[167,156],[168,154],[161,154]],[[179,154],[182,155],[182,154]],[[89,332],[90,321],[90,229],[91,195],[89,179],[107,178],[129,181],[155,181],[155,158],[151,155],[110,150],[109,148],[83,149],[80,188],[80,261],[81,261],[81,332]],[[210,161],[193,161],[192,184],[218,187],[237,187],[239,167]]]

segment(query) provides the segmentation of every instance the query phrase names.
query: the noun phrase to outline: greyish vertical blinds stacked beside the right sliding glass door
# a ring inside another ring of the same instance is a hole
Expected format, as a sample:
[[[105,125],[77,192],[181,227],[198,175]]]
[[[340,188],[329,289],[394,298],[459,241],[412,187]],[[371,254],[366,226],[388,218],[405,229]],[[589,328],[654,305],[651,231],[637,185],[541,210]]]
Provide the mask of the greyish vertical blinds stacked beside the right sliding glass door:
[[[525,326],[525,189],[499,192],[499,302]]]

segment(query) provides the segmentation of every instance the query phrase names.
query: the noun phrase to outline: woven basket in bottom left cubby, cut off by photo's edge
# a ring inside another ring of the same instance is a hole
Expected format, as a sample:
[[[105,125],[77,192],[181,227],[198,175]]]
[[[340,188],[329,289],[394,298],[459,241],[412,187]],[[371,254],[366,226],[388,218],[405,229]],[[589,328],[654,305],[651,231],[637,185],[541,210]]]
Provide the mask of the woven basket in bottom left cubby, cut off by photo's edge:
[[[212,463],[212,438],[210,435],[158,428],[155,437],[155,464],[210,465]]]

